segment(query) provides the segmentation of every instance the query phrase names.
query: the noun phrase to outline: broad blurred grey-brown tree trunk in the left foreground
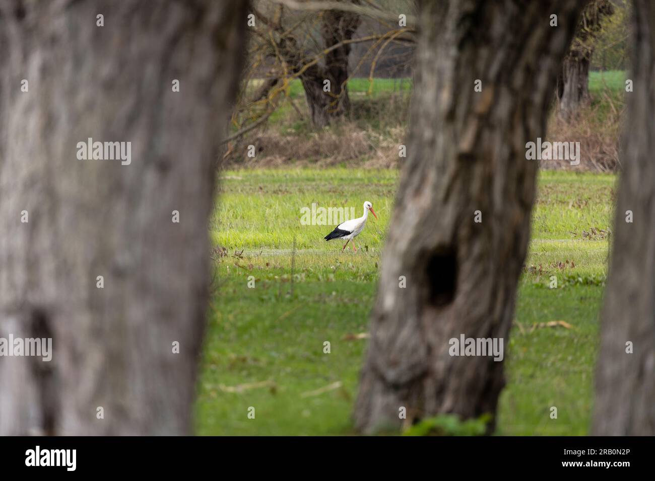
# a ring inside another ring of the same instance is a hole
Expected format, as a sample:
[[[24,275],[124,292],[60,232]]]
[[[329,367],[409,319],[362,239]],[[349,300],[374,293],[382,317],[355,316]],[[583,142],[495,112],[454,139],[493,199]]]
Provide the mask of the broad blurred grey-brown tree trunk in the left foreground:
[[[1,435],[189,433],[245,25],[240,1],[0,3],[0,337],[54,349],[0,358]],[[88,137],[131,164],[78,160]]]

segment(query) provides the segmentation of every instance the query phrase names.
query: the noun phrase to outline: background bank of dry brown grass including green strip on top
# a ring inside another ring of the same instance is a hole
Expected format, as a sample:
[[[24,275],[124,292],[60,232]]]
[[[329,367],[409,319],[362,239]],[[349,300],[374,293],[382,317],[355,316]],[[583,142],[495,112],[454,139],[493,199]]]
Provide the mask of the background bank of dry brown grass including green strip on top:
[[[553,111],[548,122],[551,141],[579,141],[582,162],[576,170],[614,171],[619,164],[618,139],[624,110],[626,74],[623,71],[591,72],[591,103],[575,122],[565,122]],[[257,81],[253,80],[254,89]],[[411,101],[411,79],[352,79],[348,92],[352,111],[343,121],[316,131],[309,121],[305,94],[299,80],[292,80],[276,96],[276,110],[261,130],[251,131],[231,145],[224,162],[230,168],[365,167],[397,168],[398,145],[405,141]],[[264,107],[261,107],[262,109]],[[238,118],[251,121],[257,114]],[[236,122],[233,132],[242,128]],[[256,158],[244,155],[255,145]],[[568,164],[568,163],[567,163]],[[545,168],[567,168],[546,162]]]

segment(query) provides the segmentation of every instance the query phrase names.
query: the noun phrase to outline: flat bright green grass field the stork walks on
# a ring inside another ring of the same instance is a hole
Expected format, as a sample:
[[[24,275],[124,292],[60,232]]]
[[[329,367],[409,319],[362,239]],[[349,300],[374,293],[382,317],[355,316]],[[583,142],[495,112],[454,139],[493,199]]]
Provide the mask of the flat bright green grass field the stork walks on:
[[[397,181],[390,169],[223,173],[210,236],[227,253],[214,256],[196,433],[352,434],[367,342],[356,335],[367,331]],[[588,433],[614,183],[608,174],[540,173],[497,434]],[[332,226],[300,223],[301,207],[314,202],[352,206],[359,217],[364,200],[379,221],[369,217],[357,253],[322,240]],[[571,328],[538,325],[548,321]]]

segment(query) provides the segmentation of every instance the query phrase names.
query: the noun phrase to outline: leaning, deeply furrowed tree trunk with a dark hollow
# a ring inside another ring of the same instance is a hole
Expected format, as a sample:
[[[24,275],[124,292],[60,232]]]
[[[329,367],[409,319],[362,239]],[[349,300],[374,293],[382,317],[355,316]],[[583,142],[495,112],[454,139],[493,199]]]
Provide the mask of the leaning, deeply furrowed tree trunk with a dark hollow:
[[[421,2],[408,157],[354,411],[364,433],[398,429],[401,407],[406,422],[495,414],[503,363],[451,357],[449,339],[508,346],[537,171],[525,144],[544,137],[583,4]]]

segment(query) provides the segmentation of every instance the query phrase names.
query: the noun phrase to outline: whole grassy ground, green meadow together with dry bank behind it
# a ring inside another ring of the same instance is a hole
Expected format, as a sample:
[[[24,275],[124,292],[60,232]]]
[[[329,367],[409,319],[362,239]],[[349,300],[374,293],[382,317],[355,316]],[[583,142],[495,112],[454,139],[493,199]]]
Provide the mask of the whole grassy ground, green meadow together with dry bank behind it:
[[[625,78],[622,71],[591,72],[591,105],[578,122],[554,113],[549,121],[558,139],[581,140],[588,158],[583,154],[585,171],[543,170],[538,177],[498,435],[588,433],[616,183],[614,173],[593,170],[616,164]],[[316,132],[294,80],[263,132],[242,141],[257,145],[257,159],[228,160],[210,221],[214,283],[198,434],[353,433],[350,412],[411,88],[409,79],[352,79],[350,118]],[[333,226],[301,224],[303,207],[354,207],[358,217],[365,200],[379,220],[369,216],[357,253],[323,240]],[[553,406],[557,419],[550,418]]]

